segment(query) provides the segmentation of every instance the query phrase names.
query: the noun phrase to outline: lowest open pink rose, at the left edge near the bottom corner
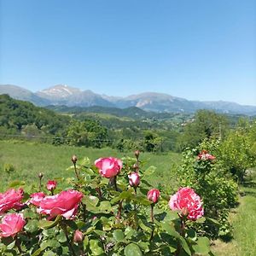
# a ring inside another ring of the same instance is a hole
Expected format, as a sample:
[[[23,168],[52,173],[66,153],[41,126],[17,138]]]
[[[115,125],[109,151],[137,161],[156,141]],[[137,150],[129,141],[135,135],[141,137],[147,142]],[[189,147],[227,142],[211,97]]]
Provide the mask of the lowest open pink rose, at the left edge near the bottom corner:
[[[6,214],[0,224],[0,237],[15,236],[26,224],[21,213]]]

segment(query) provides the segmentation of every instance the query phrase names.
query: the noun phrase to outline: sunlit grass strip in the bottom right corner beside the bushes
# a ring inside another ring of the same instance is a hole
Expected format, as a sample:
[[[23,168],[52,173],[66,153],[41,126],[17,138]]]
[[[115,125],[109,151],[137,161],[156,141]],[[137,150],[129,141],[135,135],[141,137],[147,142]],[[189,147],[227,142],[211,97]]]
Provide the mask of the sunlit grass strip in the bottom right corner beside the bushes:
[[[256,255],[256,183],[241,188],[240,205],[230,213],[233,239],[215,241],[212,247],[218,256]]]

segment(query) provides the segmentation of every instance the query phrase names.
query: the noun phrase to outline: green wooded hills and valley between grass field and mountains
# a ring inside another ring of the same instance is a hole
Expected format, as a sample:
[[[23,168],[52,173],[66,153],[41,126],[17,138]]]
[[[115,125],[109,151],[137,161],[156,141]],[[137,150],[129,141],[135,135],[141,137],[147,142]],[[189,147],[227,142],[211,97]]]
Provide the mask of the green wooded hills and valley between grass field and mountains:
[[[47,142],[54,144],[108,146],[120,151],[137,148],[148,152],[181,152],[184,148],[195,148],[206,138],[224,140],[236,125],[237,129],[241,126],[241,121],[238,122],[241,116],[208,110],[192,115],[147,113],[139,108],[50,108],[61,113],[0,96],[0,136],[43,141],[47,137]],[[250,127],[253,119],[244,119],[243,124]]]

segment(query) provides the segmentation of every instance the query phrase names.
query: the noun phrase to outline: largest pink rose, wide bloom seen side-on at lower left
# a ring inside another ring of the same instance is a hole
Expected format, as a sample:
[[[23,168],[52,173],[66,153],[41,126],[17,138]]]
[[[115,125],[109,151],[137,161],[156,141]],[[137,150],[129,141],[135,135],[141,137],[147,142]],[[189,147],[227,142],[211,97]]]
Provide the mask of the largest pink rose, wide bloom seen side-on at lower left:
[[[64,218],[73,218],[78,212],[79,202],[83,194],[69,189],[56,195],[45,196],[39,203],[38,213],[48,214],[49,218],[62,215]]]

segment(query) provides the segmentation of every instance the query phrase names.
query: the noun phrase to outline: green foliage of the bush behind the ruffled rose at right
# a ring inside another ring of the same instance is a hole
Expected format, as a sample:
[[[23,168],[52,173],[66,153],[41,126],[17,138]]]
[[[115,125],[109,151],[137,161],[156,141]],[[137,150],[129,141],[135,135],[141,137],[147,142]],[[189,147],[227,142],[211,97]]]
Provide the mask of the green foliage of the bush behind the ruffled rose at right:
[[[206,221],[196,229],[212,238],[230,236],[228,215],[238,200],[237,183],[226,172],[223,160],[218,157],[215,160],[198,159],[202,149],[210,149],[212,153],[219,147],[218,140],[207,140],[197,148],[187,149],[183,153],[182,166],[177,170],[179,184],[195,189],[204,201]]]

